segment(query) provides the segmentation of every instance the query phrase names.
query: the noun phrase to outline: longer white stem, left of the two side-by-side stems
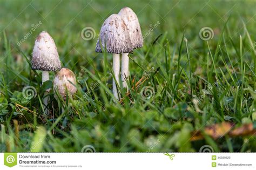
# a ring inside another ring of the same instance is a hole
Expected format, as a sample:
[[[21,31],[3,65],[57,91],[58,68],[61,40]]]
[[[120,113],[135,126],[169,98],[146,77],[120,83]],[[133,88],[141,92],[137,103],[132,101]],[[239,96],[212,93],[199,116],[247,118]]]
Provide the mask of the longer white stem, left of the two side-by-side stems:
[[[119,94],[118,94],[118,89],[116,85],[119,85],[119,72],[120,72],[120,56],[119,54],[113,53],[113,72],[114,72],[114,77],[113,77],[113,94],[116,99],[119,99]],[[116,79],[116,80],[115,80]]]

